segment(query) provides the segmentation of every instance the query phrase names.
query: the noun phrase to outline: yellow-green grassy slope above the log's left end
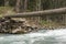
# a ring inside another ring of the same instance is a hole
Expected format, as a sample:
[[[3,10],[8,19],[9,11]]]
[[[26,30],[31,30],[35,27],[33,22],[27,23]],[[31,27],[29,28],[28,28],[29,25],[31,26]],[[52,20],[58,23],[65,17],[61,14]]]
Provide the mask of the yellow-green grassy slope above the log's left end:
[[[12,7],[0,7],[0,18],[7,14],[14,14],[15,12],[13,11]]]

